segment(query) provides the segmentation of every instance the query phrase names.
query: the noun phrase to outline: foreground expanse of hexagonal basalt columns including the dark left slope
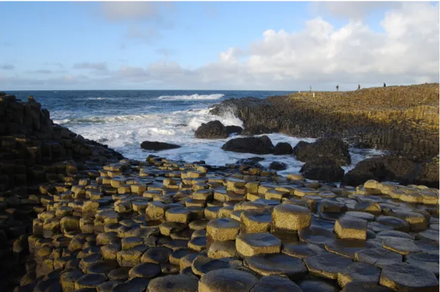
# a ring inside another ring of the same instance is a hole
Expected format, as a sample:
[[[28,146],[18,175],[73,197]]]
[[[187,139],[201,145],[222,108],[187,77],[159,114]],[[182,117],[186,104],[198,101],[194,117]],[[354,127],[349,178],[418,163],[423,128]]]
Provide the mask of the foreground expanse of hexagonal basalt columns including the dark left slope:
[[[436,188],[133,161],[6,94],[0,121],[1,291],[439,289]]]

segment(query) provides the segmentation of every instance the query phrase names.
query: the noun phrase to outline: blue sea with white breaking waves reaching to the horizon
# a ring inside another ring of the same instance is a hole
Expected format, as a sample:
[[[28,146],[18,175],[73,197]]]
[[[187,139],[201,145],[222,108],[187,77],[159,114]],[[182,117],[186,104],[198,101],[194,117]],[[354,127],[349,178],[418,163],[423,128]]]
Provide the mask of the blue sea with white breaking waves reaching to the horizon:
[[[224,166],[238,159],[264,157],[262,166],[279,161],[287,169],[279,174],[298,173],[303,162],[291,155],[256,155],[221,150],[226,139],[206,140],[194,137],[195,130],[209,121],[219,120],[225,126],[241,126],[243,121],[226,111],[223,116],[209,114],[209,107],[224,99],[240,97],[266,98],[287,95],[284,91],[242,90],[59,90],[59,91],[8,91],[18,99],[27,101],[33,95],[43,108],[50,111],[54,123],[65,126],[84,138],[95,140],[120,152],[130,159],[145,161],[149,154],[185,162],[204,160],[207,164]],[[274,145],[289,142],[292,147],[300,141],[313,142],[313,138],[295,138],[280,133],[268,134]],[[143,141],[169,142],[181,148],[151,152],[142,150]],[[379,150],[351,147],[353,169],[357,162],[381,154]]]

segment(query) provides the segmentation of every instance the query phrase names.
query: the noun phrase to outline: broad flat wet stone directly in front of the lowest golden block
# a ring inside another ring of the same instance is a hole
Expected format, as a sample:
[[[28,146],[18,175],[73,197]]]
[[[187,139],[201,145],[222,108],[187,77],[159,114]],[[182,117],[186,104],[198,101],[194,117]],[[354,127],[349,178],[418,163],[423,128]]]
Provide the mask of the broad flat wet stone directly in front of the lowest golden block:
[[[245,265],[262,276],[288,276],[293,281],[307,274],[307,268],[302,260],[283,253],[247,257]]]

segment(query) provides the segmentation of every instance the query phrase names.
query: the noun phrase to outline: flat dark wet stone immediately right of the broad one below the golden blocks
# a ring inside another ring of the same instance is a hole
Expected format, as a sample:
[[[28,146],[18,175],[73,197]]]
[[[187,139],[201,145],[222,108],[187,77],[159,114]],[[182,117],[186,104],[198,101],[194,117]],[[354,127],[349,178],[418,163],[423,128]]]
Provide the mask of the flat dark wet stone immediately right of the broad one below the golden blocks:
[[[326,253],[324,255],[307,257],[304,262],[307,265],[310,274],[336,280],[338,279],[338,272],[347,267],[353,261],[348,257],[343,257],[334,253]]]

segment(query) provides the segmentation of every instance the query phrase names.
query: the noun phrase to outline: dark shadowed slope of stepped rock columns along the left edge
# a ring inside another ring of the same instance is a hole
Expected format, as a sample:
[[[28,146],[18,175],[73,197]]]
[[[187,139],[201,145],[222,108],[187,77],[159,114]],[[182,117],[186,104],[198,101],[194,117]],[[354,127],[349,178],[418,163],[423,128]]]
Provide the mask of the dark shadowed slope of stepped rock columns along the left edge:
[[[21,102],[0,92],[0,291],[16,286],[25,273],[27,235],[41,211],[41,194],[48,195],[47,183],[70,188],[122,158],[52,123],[49,111],[33,97]]]

